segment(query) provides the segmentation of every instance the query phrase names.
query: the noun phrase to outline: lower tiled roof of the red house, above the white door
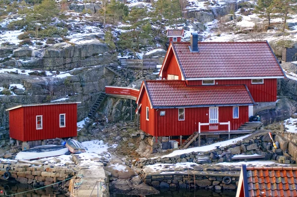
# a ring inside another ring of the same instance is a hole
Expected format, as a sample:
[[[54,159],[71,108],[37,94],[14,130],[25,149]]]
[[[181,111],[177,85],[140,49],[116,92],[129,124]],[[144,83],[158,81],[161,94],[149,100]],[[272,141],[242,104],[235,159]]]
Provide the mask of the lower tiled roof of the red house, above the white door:
[[[245,85],[187,86],[180,80],[145,81],[153,107],[253,104]]]

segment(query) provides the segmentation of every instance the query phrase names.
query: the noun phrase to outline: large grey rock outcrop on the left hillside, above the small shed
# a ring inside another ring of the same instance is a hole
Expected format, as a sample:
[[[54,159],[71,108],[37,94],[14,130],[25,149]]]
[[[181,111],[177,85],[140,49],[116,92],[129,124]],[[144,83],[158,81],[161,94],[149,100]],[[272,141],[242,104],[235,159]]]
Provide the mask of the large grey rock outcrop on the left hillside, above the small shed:
[[[58,43],[42,49],[1,48],[0,56],[9,56],[2,62],[4,66],[67,71],[107,63],[111,57],[108,51],[106,44],[93,39],[80,41],[79,44]]]

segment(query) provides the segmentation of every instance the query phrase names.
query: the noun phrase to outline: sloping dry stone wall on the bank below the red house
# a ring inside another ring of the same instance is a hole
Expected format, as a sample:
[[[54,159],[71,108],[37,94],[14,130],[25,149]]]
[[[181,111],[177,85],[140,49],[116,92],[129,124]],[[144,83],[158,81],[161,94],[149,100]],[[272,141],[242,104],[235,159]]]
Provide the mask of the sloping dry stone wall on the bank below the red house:
[[[284,163],[296,163],[296,157],[287,154],[282,148],[273,148],[268,131],[259,130],[254,133],[250,139],[244,139],[232,145],[219,147],[210,151],[190,152],[172,157],[143,158],[134,162],[134,166],[143,168],[143,166],[155,163],[174,164],[179,162],[194,162],[203,164],[211,162],[236,162],[241,160],[232,160],[232,156],[237,154],[259,154],[264,156],[264,160],[279,160],[280,156],[283,156],[279,161]]]

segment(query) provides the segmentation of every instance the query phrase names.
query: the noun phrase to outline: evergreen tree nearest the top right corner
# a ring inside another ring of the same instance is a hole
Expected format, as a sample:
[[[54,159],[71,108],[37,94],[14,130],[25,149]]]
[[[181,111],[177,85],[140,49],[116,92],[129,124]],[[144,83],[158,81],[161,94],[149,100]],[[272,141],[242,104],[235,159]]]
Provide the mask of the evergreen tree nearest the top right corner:
[[[297,0],[274,0],[273,4],[274,12],[279,13],[278,16],[284,21],[283,31],[285,31],[287,20],[292,18],[289,13],[297,9]]]

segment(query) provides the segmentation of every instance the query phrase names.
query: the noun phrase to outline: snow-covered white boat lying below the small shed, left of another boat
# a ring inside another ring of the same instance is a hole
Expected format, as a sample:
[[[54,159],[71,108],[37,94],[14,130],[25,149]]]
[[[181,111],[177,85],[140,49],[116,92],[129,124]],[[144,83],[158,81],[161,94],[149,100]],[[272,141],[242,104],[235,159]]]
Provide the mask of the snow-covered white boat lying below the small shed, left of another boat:
[[[65,146],[45,145],[22,150],[15,156],[17,160],[39,159],[50,156],[59,156],[68,152]]]

